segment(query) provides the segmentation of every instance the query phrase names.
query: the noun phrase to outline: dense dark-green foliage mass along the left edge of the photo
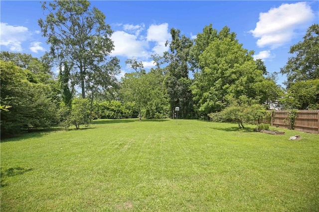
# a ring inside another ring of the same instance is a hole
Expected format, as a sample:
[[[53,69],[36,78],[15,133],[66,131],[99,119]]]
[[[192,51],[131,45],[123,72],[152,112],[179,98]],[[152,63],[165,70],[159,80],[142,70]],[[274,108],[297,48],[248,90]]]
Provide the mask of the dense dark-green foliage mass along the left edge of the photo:
[[[12,136],[32,128],[57,123],[56,102],[49,85],[30,82],[33,74],[12,62],[0,61],[1,135]]]

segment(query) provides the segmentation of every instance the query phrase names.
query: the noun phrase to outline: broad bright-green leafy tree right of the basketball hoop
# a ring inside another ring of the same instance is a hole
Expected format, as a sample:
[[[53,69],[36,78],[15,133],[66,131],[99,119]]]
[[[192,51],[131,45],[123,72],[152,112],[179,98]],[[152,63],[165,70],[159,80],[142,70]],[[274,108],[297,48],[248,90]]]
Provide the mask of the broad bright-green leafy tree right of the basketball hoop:
[[[192,85],[193,100],[198,116],[222,110],[230,101],[247,97],[256,99],[254,84],[262,82],[262,70],[252,57],[253,52],[242,48],[236,35],[224,27],[199,56],[200,72]]]

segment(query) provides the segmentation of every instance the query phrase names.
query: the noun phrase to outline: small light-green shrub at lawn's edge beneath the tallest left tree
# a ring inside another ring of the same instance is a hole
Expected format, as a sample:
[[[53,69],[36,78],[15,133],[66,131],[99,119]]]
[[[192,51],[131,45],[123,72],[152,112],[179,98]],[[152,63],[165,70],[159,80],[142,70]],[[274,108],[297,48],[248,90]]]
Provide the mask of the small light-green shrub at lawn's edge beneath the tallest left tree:
[[[72,108],[62,106],[60,111],[61,123],[60,125],[69,128],[74,125],[77,129],[80,125],[88,127],[92,122],[90,118],[90,100],[89,99],[74,99],[72,101]]]

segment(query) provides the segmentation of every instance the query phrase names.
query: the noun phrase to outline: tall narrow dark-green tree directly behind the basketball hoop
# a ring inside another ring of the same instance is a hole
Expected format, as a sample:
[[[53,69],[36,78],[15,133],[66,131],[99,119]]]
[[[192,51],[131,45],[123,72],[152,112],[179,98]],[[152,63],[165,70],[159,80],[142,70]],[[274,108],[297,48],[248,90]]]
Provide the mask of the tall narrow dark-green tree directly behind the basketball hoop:
[[[189,86],[191,80],[188,72],[189,54],[193,42],[185,35],[180,35],[179,29],[170,29],[172,41],[169,44],[170,52],[165,52],[166,68],[166,87],[170,100],[170,111],[176,106],[180,107],[180,117],[192,117],[192,95]],[[167,44],[167,43],[166,43]]]

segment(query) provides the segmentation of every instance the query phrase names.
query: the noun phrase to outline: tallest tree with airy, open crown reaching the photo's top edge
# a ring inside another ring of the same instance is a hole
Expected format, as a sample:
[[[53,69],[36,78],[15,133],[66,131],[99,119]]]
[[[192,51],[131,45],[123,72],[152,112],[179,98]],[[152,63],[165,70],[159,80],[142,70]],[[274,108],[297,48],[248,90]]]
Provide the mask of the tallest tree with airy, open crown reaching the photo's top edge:
[[[103,64],[114,48],[111,27],[88,0],[54,0],[43,2],[42,8],[48,14],[38,24],[51,44],[50,55],[58,64],[68,62],[85,98],[88,73]]]

